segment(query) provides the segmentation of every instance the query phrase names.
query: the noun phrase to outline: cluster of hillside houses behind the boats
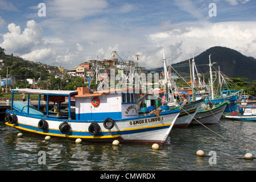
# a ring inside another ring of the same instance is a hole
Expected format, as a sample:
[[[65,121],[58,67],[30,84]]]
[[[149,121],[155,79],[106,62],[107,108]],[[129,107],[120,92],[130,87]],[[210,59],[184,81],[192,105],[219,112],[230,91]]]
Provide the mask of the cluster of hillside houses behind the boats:
[[[121,59],[122,60],[122,59]],[[49,65],[42,64],[40,62],[32,62],[32,64],[37,64],[40,67],[44,68],[49,68]],[[0,60],[0,69],[3,66],[3,60]],[[55,78],[60,77],[63,78],[64,76],[67,76],[69,78],[72,77],[82,77],[84,78],[84,81],[88,81],[89,77],[93,77],[96,71],[96,67],[98,68],[99,73],[107,73],[110,77],[110,69],[115,69],[116,73],[124,73],[125,75],[128,75],[130,72],[133,72],[134,69],[139,69],[140,72],[143,73],[148,73],[146,68],[139,67],[139,55],[135,55],[134,61],[118,61],[117,57],[117,52],[113,51],[112,52],[112,57],[111,59],[102,59],[102,60],[89,60],[81,63],[78,67],[73,68],[72,70],[67,70],[65,68],[62,68],[61,66],[59,67],[54,67],[55,69],[47,69],[50,73],[50,75],[54,75]],[[57,69],[58,68],[58,69]],[[151,72],[154,75],[154,72]],[[159,76],[163,76],[162,72],[159,72]],[[9,76],[6,78],[0,77],[1,80],[1,86],[6,85],[6,80],[7,84],[15,84],[15,77]],[[31,78],[27,78],[28,84],[32,84],[33,88],[36,88],[36,81]]]

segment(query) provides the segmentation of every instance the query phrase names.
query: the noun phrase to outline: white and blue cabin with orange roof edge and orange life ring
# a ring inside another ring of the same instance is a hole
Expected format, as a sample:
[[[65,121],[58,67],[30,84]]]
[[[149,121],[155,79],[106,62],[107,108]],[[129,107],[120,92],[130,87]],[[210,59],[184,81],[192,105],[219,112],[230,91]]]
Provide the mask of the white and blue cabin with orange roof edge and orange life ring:
[[[139,89],[102,90],[93,93],[90,93],[88,88],[77,88],[77,90],[76,120],[138,117]]]

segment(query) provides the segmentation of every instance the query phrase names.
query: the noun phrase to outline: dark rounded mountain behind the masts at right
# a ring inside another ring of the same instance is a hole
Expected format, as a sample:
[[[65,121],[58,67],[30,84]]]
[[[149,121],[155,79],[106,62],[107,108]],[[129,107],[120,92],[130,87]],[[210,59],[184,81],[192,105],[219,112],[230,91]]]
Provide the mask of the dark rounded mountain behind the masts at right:
[[[234,49],[219,46],[209,48],[195,57],[195,63],[200,73],[209,73],[209,55],[211,55],[211,63],[216,62],[213,67],[218,70],[218,66],[220,66],[221,72],[226,76],[245,77],[248,79],[247,81],[256,80],[256,59],[242,55]],[[190,60],[192,63],[192,58]],[[180,63],[172,64],[172,67],[174,67],[181,76],[189,76],[188,64],[189,60],[185,60]],[[214,68],[213,71],[215,71]]]

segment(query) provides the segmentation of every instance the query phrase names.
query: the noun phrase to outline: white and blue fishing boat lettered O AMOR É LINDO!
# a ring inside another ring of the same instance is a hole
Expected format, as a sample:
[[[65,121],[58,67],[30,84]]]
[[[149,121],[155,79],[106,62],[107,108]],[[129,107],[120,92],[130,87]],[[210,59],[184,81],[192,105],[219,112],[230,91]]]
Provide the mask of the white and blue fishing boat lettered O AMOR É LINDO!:
[[[140,89],[122,88],[91,92],[89,88],[64,90],[12,90],[11,109],[6,110],[6,125],[17,130],[53,139],[84,142],[158,143],[164,144],[180,113],[179,109],[162,111],[158,115],[138,115]],[[27,94],[26,102],[14,101],[15,93]],[[30,105],[31,94],[43,96],[46,111]],[[68,113],[60,113],[60,105],[68,97]],[[75,98],[75,114],[71,112],[71,97]],[[55,102],[57,113],[49,112]]]

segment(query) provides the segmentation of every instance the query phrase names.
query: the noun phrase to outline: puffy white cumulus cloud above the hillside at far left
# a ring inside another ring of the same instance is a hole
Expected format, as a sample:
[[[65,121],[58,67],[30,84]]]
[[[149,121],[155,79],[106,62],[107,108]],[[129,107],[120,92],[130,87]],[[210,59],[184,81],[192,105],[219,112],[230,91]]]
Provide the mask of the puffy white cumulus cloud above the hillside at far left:
[[[30,52],[34,46],[42,42],[43,29],[36,24],[35,20],[29,20],[23,32],[20,26],[14,23],[8,25],[8,30],[9,32],[3,35],[3,42],[0,44],[7,53]]]

